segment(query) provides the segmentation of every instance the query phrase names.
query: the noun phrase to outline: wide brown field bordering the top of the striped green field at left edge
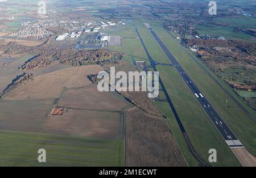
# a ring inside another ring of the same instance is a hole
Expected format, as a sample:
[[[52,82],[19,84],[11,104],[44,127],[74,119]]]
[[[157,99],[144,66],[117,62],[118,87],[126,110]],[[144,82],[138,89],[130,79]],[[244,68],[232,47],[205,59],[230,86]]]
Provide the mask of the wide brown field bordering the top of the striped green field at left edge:
[[[100,138],[123,138],[119,111],[67,109],[52,116],[53,100],[0,100],[0,129]]]

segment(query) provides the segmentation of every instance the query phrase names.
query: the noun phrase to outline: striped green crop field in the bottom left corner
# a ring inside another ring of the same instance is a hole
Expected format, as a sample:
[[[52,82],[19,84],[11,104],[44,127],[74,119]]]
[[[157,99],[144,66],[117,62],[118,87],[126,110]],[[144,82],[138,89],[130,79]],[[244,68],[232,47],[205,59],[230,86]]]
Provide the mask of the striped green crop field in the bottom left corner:
[[[0,130],[0,166],[123,166],[123,141]],[[38,150],[46,163],[38,163]]]

